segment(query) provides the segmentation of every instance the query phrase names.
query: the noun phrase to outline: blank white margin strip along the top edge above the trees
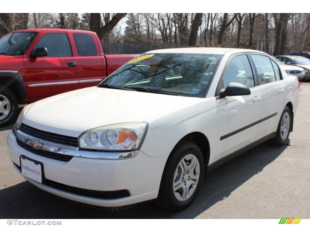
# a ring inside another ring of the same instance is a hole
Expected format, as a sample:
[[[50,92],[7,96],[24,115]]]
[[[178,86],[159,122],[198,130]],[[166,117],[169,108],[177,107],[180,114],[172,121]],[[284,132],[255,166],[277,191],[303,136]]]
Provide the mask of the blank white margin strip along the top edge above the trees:
[[[101,12],[129,12],[129,13],[166,13],[190,12],[197,13],[308,13],[308,1],[300,0],[297,4],[281,3],[275,0],[135,0],[135,1],[42,1],[42,0],[15,0],[14,7],[9,4],[1,6],[3,13],[54,13],[54,12],[86,12],[93,13],[100,9]],[[289,5],[289,7],[288,7]],[[289,10],[289,11],[288,11]]]

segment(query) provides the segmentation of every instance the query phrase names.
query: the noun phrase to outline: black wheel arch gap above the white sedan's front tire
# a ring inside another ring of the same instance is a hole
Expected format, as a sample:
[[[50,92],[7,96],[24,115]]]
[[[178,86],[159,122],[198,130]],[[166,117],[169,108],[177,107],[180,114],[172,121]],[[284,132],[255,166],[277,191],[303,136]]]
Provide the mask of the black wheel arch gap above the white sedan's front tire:
[[[176,147],[178,147],[178,145],[180,143],[183,143],[184,141],[185,142],[188,141],[188,142],[192,142],[192,143],[196,144],[199,147],[199,149],[201,150],[205,165],[208,165],[209,159],[210,159],[210,143],[209,143],[209,140],[207,139],[206,135],[204,135],[201,132],[197,132],[197,131],[191,132],[191,133],[185,135],[182,139],[179,140],[179,142],[177,144],[175,144],[171,153],[173,152],[173,150]]]

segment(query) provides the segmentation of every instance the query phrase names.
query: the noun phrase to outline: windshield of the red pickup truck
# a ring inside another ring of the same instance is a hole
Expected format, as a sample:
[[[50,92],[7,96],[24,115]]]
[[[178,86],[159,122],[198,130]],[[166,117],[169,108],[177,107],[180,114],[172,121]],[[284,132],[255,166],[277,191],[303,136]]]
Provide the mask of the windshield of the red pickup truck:
[[[23,55],[36,34],[36,32],[14,32],[3,36],[0,39],[0,55]]]

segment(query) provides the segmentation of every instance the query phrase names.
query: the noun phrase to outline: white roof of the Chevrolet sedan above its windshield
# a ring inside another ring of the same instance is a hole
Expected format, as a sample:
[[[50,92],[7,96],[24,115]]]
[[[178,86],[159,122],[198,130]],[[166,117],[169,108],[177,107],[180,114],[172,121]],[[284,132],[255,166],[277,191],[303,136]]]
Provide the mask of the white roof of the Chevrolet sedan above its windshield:
[[[148,51],[147,53],[202,53],[202,54],[235,54],[235,53],[261,53],[261,51],[240,48],[169,48]]]

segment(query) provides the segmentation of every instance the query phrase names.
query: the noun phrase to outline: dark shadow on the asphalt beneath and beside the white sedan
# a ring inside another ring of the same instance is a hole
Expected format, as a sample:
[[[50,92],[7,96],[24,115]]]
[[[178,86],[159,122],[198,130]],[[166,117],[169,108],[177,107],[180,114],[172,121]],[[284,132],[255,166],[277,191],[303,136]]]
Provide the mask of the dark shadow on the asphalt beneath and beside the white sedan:
[[[263,143],[204,175],[200,192],[187,209],[172,213],[153,202],[122,210],[104,210],[67,201],[25,181],[0,190],[0,218],[195,218],[272,163],[286,149]]]

